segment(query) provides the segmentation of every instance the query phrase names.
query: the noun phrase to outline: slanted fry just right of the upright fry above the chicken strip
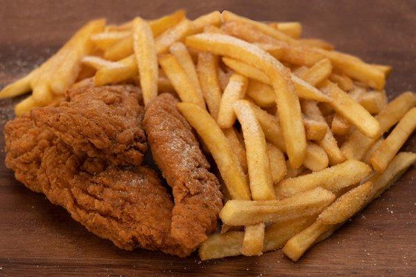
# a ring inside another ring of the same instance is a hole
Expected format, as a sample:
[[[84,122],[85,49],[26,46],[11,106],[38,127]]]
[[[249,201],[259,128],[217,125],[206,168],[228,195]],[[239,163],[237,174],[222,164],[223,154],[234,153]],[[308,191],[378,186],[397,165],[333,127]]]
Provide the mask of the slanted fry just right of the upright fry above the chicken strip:
[[[159,57],[159,64],[165,72],[168,79],[171,81],[175,91],[182,102],[196,103],[202,109],[205,109],[205,103],[200,98],[195,87],[189,81],[184,69],[177,62],[175,56],[172,54],[165,54]]]

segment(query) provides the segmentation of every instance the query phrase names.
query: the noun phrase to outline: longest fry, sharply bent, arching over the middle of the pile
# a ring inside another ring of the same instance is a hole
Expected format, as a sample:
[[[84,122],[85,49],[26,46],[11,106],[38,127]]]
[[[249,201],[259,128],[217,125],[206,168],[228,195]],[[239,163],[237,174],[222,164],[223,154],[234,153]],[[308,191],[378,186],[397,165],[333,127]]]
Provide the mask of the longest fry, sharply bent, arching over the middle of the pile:
[[[244,57],[249,65],[266,72],[276,94],[277,110],[286,142],[286,153],[293,167],[302,164],[306,151],[306,137],[302,124],[299,99],[287,69],[270,54],[243,40],[217,33],[200,33],[187,37],[185,43],[200,51],[210,51],[230,58]],[[292,140],[291,137],[297,137]]]

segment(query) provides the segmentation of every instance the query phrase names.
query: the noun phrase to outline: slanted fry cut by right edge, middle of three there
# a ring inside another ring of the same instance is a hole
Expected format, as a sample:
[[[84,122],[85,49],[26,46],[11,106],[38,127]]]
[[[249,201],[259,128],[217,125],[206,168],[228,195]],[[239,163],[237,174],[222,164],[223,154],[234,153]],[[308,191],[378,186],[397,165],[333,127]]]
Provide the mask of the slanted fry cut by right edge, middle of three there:
[[[374,169],[379,173],[388,167],[388,164],[395,157],[404,142],[410,137],[416,128],[416,107],[406,112],[400,119],[393,131],[385,138],[379,148],[373,153],[370,162]]]

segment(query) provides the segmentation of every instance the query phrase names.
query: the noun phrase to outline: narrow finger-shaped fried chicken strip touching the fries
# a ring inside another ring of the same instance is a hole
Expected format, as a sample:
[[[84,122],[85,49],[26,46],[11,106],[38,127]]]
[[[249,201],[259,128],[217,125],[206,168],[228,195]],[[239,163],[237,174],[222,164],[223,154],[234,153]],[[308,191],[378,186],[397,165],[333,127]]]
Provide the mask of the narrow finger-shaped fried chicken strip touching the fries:
[[[171,94],[160,94],[146,107],[143,124],[153,159],[173,187],[172,237],[195,249],[216,230],[222,194],[218,179],[209,172],[209,163],[176,103]]]

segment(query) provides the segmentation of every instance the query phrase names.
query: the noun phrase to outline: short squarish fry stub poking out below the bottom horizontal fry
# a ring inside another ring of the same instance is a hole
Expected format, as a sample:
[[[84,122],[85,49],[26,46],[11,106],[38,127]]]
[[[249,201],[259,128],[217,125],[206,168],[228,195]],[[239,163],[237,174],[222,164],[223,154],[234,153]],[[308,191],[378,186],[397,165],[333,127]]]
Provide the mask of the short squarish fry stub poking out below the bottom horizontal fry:
[[[245,256],[261,255],[263,253],[264,223],[245,226],[241,253]]]

